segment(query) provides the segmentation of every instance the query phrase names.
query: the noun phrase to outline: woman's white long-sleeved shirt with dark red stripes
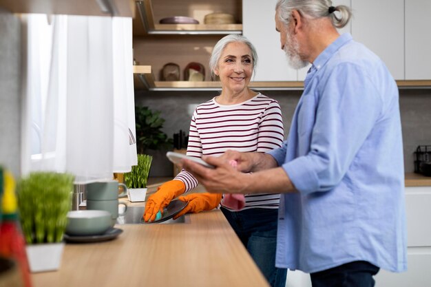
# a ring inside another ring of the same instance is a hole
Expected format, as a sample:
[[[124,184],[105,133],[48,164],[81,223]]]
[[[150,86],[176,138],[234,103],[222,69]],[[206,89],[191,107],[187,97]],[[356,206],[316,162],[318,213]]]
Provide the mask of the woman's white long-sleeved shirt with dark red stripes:
[[[257,94],[236,105],[220,105],[215,98],[196,107],[191,118],[187,156],[220,156],[227,149],[266,152],[281,147],[284,138],[282,112],[276,100]],[[175,180],[190,191],[198,180],[184,169]],[[245,195],[244,209],[277,209],[279,194]]]

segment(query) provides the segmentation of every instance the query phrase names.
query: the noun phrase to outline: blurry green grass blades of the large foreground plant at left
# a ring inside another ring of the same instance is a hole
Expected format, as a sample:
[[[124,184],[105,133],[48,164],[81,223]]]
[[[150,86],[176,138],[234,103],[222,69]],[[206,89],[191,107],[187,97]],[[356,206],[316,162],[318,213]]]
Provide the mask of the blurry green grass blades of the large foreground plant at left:
[[[68,173],[36,171],[19,181],[19,217],[27,244],[63,240],[73,180]]]

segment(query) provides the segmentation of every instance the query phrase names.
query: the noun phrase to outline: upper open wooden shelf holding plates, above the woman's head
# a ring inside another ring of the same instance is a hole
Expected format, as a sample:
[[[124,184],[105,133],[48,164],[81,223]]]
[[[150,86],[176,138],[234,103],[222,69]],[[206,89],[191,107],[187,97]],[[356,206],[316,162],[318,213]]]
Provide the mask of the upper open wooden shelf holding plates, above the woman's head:
[[[136,0],[136,8],[140,15],[137,17],[140,18],[140,23],[134,25],[137,30],[134,34],[138,36],[145,34],[242,34],[242,24],[157,24],[151,0]],[[138,28],[138,25],[143,25],[144,31]]]

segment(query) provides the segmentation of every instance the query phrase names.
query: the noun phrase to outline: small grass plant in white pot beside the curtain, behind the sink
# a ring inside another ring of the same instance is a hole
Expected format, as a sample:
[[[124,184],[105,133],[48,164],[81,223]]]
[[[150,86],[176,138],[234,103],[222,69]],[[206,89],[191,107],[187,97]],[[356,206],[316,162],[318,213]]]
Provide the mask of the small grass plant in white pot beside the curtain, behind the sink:
[[[131,202],[145,201],[151,160],[153,160],[152,156],[138,154],[138,164],[132,167],[132,171],[124,174],[124,181],[127,185],[127,197]]]

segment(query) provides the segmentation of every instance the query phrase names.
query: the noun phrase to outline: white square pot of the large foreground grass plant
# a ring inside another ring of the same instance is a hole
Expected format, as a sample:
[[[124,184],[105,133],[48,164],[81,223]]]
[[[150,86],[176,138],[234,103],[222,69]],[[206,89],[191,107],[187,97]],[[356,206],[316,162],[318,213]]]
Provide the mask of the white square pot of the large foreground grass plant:
[[[60,268],[64,242],[25,246],[31,272],[54,271]]]

